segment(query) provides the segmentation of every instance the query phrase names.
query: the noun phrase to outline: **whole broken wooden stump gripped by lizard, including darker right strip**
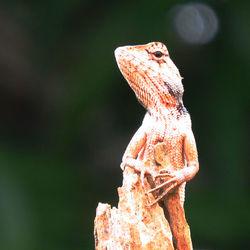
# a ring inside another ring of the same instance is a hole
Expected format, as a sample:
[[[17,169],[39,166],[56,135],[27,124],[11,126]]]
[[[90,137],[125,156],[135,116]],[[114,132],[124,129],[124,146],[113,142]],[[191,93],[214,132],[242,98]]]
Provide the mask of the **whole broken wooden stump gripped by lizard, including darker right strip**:
[[[156,166],[152,169],[154,174],[169,164],[166,159],[164,143],[160,143],[155,147],[151,165]],[[174,189],[161,202],[148,206],[155,197],[151,193],[146,194],[145,190],[150,190],[155,184],[159,183],[154,183],[150,176],[145,177],[142,183],[140,174],[132,168],[125,168],[123,185],[118,188],[118,208],[99,203],[96,209],[94,231],[97,250],[192,249],[184,199],[179,196],[179,188],[182,187]],[[185,184],[182,185],[184,188]]]

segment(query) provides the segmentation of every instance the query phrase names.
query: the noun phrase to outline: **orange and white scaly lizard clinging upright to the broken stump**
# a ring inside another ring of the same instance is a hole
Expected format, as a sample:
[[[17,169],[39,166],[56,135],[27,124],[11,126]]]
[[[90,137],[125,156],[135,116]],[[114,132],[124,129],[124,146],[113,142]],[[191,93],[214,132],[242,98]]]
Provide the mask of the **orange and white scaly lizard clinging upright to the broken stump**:
[[[183,78],[161,42],[118,47],[115,58],[147,111],[125,150],[121,168],[134,169],[142,181],[144,175],[153,177],[156,185],[147,194],[161,193],[149,206],[163,201],[175,248],[192,249],[183,204],[185,184],[199,171],[199,162],[190,115],[183,105]],[[159,145],[165,152],[163,169],[157,168],[161,162],[154,158]]]

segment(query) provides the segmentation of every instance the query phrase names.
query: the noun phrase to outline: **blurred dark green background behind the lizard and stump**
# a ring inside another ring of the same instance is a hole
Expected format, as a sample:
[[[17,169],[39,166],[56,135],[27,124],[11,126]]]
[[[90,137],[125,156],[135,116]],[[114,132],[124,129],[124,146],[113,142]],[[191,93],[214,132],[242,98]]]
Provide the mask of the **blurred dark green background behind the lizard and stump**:
[[[93,249],[144,109],[114,59],[162,41],[185,78],[200,172],[196,249],[250,249],[250,1],[0,3],[0,249]]]

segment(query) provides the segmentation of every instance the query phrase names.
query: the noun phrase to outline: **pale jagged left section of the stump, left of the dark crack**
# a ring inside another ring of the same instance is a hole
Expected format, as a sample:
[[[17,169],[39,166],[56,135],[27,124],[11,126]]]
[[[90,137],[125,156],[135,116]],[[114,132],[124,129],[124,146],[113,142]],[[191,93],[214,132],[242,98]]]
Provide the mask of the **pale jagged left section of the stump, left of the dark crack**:
[[[96,249],[174,249],[164,211],[158,204],[147,206],[154,198],[145,195],[140,175],[126,168],[123,178],[118,208],[99,203],[96,209]]]

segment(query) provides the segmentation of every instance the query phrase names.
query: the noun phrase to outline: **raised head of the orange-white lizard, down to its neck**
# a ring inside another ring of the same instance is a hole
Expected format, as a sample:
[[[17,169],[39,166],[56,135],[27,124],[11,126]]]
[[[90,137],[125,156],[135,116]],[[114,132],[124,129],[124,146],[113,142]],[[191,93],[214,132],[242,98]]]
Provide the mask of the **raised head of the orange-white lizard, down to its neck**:
[[[115,57],[123,76],[149,111],[159,104],[182,105],[182,77],[163,43],[119,47]]]

